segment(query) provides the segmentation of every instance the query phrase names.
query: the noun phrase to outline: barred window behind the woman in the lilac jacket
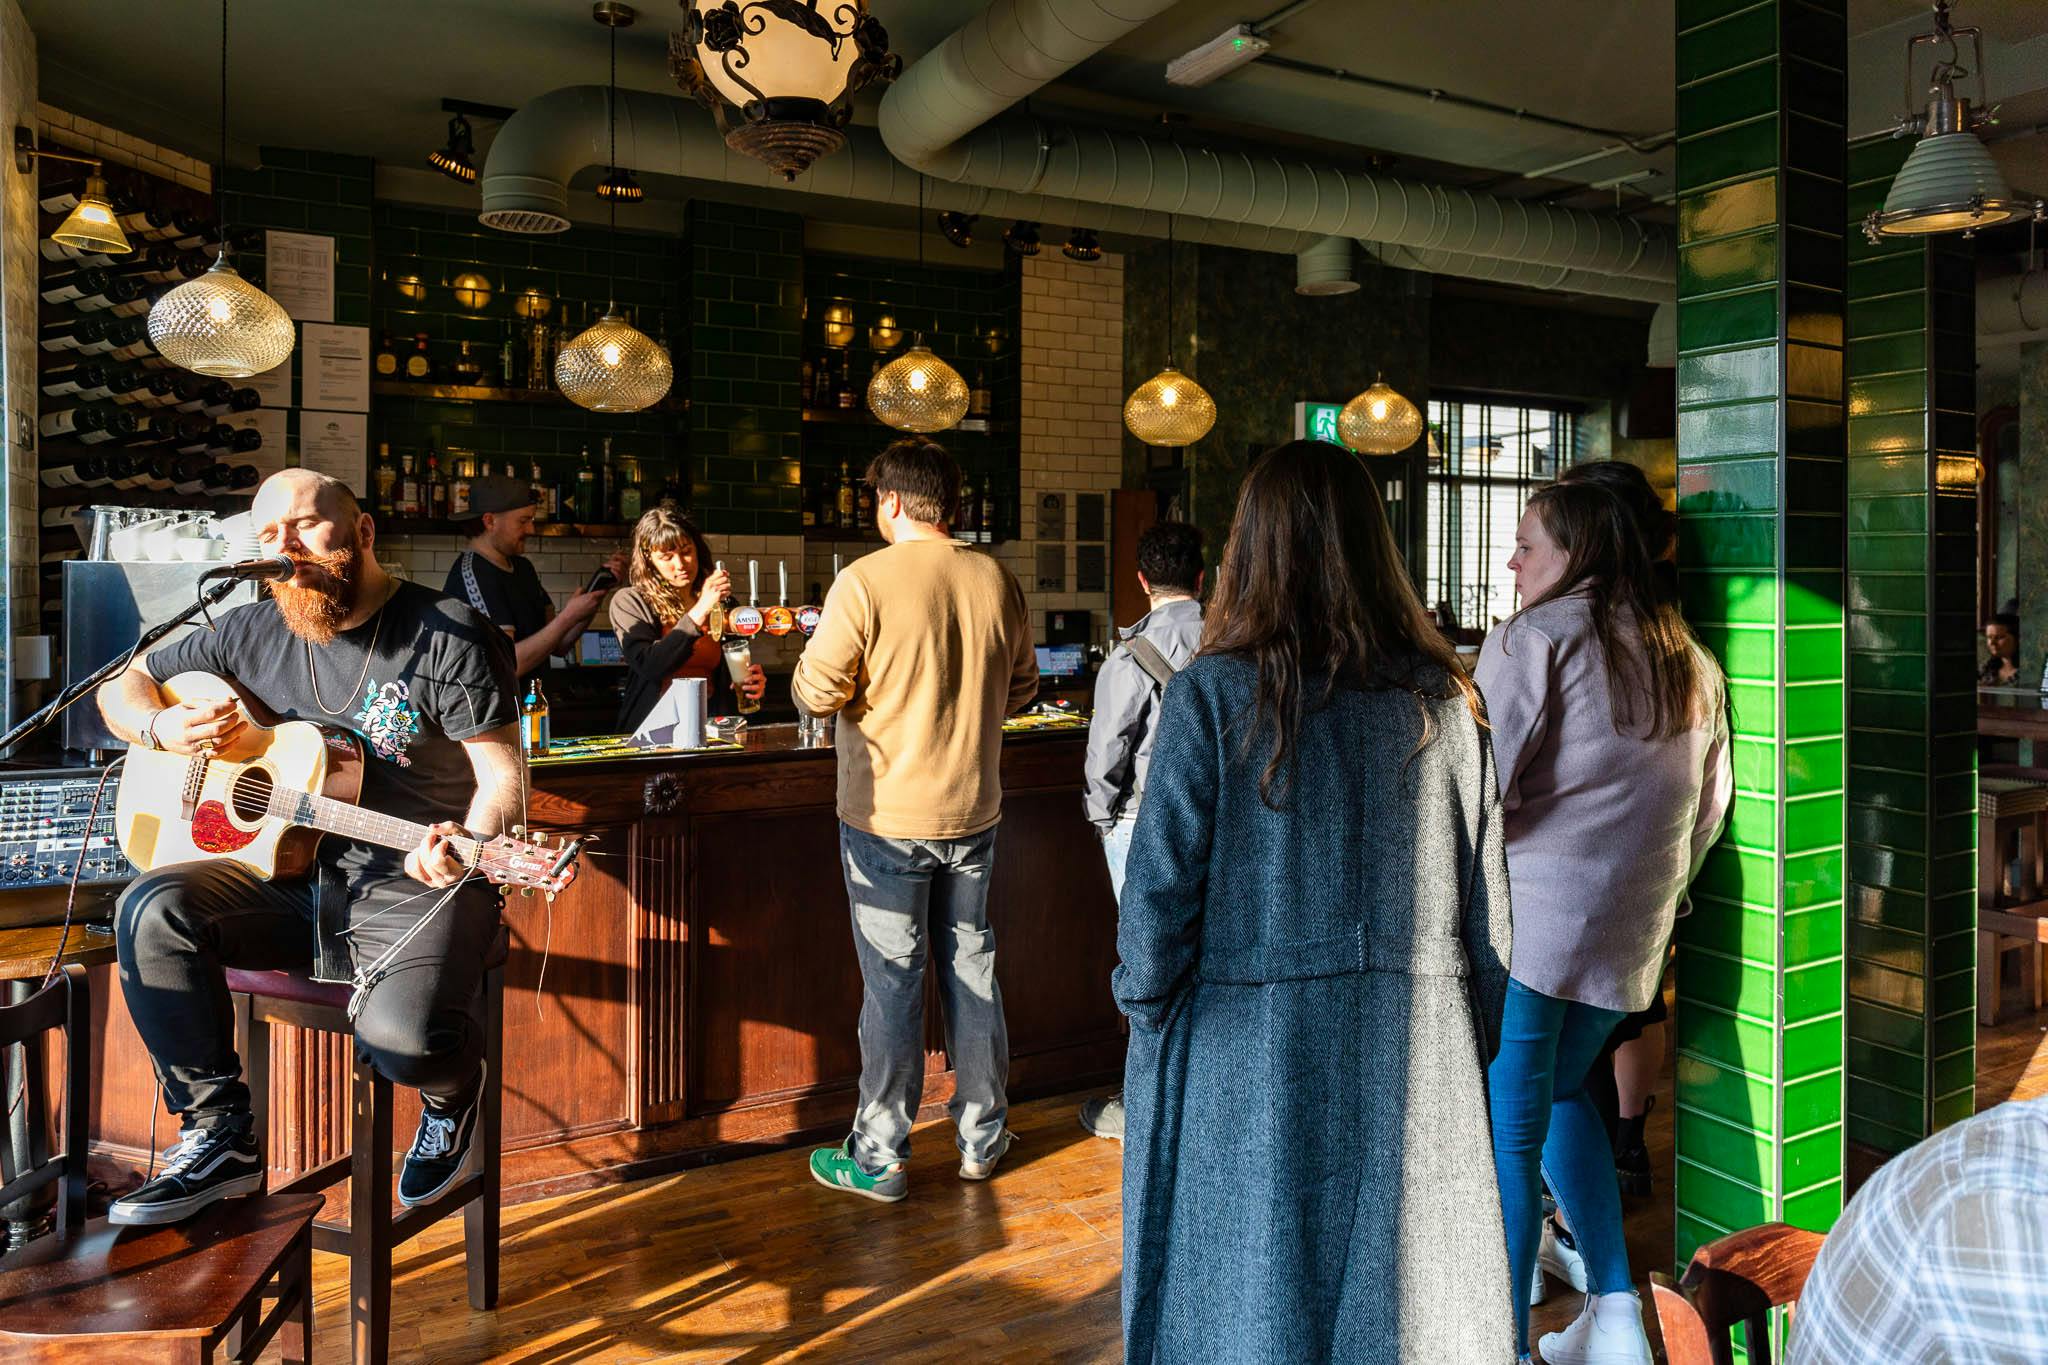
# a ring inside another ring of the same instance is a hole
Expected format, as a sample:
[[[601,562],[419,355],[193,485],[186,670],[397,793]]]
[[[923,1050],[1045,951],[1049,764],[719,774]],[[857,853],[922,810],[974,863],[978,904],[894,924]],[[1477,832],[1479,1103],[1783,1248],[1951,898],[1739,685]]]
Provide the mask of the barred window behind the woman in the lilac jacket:
[[[1430,403],[1430,606],[1464,630],[1516,610],[1507,557],[1530,493],[1571,460],[1573,415],[1550,407]]]

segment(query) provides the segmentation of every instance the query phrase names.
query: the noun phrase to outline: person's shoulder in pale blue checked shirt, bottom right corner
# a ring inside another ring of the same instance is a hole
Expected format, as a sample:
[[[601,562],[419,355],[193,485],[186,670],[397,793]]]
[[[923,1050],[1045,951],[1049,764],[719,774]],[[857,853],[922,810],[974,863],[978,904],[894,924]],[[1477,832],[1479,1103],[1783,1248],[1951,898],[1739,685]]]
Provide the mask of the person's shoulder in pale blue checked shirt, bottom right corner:
[[[2013,1099],[1878,1169],[1821,1244],[1788,1365],[2048,1359],[2048,1099]]]

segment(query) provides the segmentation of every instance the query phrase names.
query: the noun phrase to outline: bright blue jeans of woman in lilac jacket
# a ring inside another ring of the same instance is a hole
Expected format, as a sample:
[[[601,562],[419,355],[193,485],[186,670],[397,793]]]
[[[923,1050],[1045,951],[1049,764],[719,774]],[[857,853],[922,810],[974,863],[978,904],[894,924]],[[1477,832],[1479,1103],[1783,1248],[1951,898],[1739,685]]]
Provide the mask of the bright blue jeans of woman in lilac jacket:
[[[1501,1052],[1487,1070],[1493,1105],[1493,1169],[1507,1224],[1507,1289],[1516,1306],[1516,1351],[1530,1349],[1530,1277],[1542,1240],[1542,1183],[1585,1257],[1587,1293],[1624,1293],[1628,1242],[1614,1148],[1585,1095],[1585,1074],[1622,1021],[1595,1009],[1507,982]]]

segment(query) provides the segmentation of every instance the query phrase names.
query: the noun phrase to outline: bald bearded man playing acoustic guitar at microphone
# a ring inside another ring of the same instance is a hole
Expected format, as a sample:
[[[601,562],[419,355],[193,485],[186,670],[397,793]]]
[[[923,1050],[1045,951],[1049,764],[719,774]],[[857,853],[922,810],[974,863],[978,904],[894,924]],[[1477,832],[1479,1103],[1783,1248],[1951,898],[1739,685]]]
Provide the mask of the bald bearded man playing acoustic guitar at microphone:
[[[100,688],[106,724],[135,749],[199,755],[184,800],[190,825],[180,827],[188,843],[176,847],[231,853],[250,839],[219,800],[195,800],[197,774],[215,755],[227,767],[238,745],[262,735],[252,720],[256,710],[268,722],[262,708],[358,737],[362,821],[424,837],[401,851],[328,833],[307,876],[274,882],[231,855],[172,866],[137,857],[156,870],[129,884],[115,913],[121,990],[182,1132],[164,1173],[113,1203],[117,1224],[176,1222],[262,1187],[233,1046],[231,966],[354,982],[358,1052],[424,1101],[399,1173],[403,1203],[426,1203],[471,1162],[483,958],[500,905],[459,851],[475,849],[469,835],[520,821],[512,651],[469,606],[385,573],[377,528],[338,479],[276,473],[256,491],[252,520],[264,553],[289,557],[297,573],[215,628],[129,663]],[[166,694],[164,684],[195,671],[229,679],[244,702]],[[133,772],[123,786],[131,782]],[[158,796],[176,817],[176,792],[147,794]],[[152,821],[160,825],[174,821]]]

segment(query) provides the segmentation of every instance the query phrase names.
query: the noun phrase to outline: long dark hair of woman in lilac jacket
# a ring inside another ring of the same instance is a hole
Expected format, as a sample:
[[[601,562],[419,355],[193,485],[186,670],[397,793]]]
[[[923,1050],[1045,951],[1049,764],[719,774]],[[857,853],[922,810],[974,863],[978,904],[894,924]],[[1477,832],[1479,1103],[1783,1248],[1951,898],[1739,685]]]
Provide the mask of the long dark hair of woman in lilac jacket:
[[[1692,729],[1702,702],[1712,696],[1712,679],[1677,604],[1659,589],[1628,503],[1604,483],[1579,479],[1536,489],[1530,510],[1565,553],[1565,573],[1522,610],[1583,593],[1593,608],[1593,634],[1606,659],[1614,733],[1669,739]],[[1624,612],[1634,618],[1640,649],[1622,639],[1618,620]]]

